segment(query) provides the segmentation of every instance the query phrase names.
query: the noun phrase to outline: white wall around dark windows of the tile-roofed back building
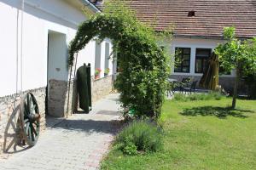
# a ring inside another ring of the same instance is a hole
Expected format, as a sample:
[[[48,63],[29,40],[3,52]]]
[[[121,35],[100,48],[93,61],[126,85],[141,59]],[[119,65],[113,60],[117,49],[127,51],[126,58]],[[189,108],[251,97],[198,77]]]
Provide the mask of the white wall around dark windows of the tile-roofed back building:
[[[218,43],[223,43],[223,40],[217,39],[200,39],[200,38],[180,38],[174,37],[172,39],[171,51],[175,53],[175,48],[191,48],[190,52],[190,71],[189,73],[175,72],[174,66],[172,66],[172,78],[182,80],[183,77],[193,77],[194,80],[200,80],[202,74],[195,73],[195,49],[196,48],[214,48],[218,46]],[[224,88],[230,89],[233,86],[235,77],[235,71],[231,71],[230,75],[221,75],[219,77],[219,84]]]

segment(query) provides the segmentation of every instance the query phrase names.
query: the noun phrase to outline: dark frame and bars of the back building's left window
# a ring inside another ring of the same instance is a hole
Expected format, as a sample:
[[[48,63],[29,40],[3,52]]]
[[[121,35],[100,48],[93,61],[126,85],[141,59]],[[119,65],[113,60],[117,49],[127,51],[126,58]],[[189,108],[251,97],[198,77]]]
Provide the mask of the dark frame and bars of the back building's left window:
[[[182,53],[181,53],[181,63],[177,66],[177,65],[175,65],[175,67],[174,67],[174,72],[177,72],[177,73],[189,73],[190,72],[190,60],[191,60],[191,48],[183,48],[183,47],[175,47],[175,59],[176,59],[176,57],[177,57],[177,55],[176,55],[176,53],[177,53],[177,50],[178,49],[181,49],[182,50]],[[184,58],[184,49],[189,49],[189,59],[185,59],[185,60],[183,60],[183,58]],[[185,66],[185,65],[183,65],[183,62],[184,61],[187,61],[188,63],[189,63],[189,65],[188,66]],[[180,67],[180,69],[177,71],[176,69],[178,68],[178,67]],[[183,68],[184,67],[188,67],[188,71],[183,71]]]

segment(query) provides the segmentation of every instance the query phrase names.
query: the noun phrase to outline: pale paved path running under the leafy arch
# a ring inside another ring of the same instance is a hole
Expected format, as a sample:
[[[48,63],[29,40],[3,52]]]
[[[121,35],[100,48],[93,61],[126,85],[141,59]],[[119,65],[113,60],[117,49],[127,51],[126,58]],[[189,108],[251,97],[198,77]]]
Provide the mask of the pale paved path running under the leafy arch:
[[[90,114],[74,114],[46,129],[36,146],[0,160],[0,169],[97,169],[118,127],[117,99],[109,94]]]

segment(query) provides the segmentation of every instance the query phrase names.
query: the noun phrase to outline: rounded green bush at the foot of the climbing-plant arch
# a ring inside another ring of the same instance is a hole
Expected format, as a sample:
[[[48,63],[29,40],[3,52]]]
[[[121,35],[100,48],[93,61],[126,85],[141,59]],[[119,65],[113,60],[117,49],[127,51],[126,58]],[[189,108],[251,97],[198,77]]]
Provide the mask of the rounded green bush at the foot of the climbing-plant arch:
[[[115,145],[128,155],[158,151],[162,148],[162,131],[152,122],[134,121],[119,133]]]

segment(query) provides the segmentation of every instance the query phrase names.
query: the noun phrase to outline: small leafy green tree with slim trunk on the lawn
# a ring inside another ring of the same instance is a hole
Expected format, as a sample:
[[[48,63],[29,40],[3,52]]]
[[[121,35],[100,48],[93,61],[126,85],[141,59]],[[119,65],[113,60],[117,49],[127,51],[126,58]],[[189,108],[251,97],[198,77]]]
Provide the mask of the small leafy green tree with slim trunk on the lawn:
[[[226,42],[215,48],[220,65],[225,71],[236,70],[236,78],[233,90],[232,108],[236,108],[238,82],[241,77],[256,71],[256,38],[240,40],[235,37],[235,27],[224,28]]]

